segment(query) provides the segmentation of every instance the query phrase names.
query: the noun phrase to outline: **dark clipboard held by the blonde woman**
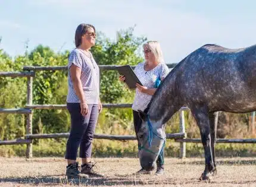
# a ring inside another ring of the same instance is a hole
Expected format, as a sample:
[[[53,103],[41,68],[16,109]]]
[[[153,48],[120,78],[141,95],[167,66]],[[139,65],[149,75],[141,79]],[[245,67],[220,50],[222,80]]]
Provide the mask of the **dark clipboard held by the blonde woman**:
[[[130,65],[117,66],[117,71],[120,75],[124,75],[124,77],[126,77],[124,83],[126,83],[130,90],[136,89],[136,83],[142,85],[141,81],[139,81],[139,78],[135,75],[135,72]]]

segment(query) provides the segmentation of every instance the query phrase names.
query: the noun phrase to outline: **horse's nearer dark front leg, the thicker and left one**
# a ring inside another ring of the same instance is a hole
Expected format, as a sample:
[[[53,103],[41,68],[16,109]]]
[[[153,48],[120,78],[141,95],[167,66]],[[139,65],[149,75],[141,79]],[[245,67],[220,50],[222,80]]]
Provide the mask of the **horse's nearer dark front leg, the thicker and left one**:
[[[193,116],[196,123],[199,126],[202,145],[204,145],[204,156],[205,156],[205,170],[202,173],[200,180],[208,180],[214,172],[214,161],[211,150],[211,134],[208,111],[206,107],[195,107],[192,110]]]

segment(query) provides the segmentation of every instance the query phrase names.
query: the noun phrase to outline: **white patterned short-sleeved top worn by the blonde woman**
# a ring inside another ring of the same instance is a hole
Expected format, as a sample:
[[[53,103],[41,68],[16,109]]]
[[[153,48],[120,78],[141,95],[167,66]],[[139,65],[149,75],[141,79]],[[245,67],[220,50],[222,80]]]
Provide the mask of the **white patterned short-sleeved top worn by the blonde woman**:
[[[154,69],[151,69],[151,71],[145,71],[144,65],[145,62],[138,64],[135,67],[134,72],[143,84],[143,86],[148,88],[154,88],[157,78],[161,78],[161,80],[163,80],[169,73],[168,66],[164,63],[158,64]],[[132,109],[135,111],[145,110],[151,98],[151,95],[141,93],[136,88],[135,99],[133,101]]]

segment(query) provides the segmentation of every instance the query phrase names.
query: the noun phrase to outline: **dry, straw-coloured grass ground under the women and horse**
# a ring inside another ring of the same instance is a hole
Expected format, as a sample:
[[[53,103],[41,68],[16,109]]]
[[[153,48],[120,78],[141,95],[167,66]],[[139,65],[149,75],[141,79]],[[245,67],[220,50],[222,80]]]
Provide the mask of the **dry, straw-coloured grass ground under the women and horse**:
[[[136,176],[138,159],[95,159],[105,178],[67,182],[63,158],[0,157],[0,186],[256,186],[256,158],[218,158],[217,175],[210,182],[198,180],[204,159],[166,159],[164,176]]]

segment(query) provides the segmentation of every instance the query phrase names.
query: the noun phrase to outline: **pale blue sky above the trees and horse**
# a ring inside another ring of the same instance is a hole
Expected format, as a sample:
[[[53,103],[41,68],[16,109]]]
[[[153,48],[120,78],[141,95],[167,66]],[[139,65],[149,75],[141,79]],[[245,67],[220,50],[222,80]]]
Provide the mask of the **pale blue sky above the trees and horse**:
[[[249,0],[0,0],[0,49],[13,58],[39,44],[55,52],[74,48],[74,31],[90,23],[115,40],[158,40],[166,63],[177,63],[207,43],[241,48],[256,43],[256,1]]]

